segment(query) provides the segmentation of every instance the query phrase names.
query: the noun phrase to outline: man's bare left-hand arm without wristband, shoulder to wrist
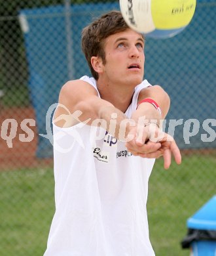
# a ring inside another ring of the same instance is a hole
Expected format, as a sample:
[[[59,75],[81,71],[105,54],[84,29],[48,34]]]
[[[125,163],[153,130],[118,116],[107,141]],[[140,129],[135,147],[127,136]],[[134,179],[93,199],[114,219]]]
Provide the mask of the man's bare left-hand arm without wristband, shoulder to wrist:
[[[94,125],[96,119],[103,119],[105,122],[101,122],[100,125],[117,139],[120,135],[120,125],[123,120],[127,119],[124,113],[115,108],[113,104],[99,98],[92,85],[82,80],[69,81],[63,85],[54,123],[59,127],[76,125],[78,121],[73,118],[73,113],[76,111],[81,112],[79,121],[89,119],[88,125]],[[115,114],[115,125],[112,123],[113,114]],[[125,129],[125,133],[128,133],[128,127],[129,125]]]

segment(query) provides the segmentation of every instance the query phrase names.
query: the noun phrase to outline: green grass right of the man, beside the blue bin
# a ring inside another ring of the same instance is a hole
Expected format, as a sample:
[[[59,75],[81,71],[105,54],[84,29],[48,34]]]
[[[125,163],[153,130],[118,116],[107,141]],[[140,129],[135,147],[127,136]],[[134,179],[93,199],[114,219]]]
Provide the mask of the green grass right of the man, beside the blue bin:
[[[183,256],[181,240],[187,234],[187,219],[216,194],[216,158],[187,156],[168,171],[157,160],[150,178],[148,214],[151,242],[156,255]]]

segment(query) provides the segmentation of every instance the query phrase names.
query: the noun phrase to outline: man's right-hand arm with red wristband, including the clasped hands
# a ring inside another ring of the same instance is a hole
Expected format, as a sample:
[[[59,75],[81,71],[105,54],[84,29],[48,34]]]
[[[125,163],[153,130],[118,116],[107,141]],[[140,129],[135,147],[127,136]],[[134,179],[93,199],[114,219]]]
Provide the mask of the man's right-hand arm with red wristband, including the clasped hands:
[[[151,90],[149,90],[151,88]],[[142,103],[135,110],[132,118],[138,123],[137,127],[130,130],[134,135],[134,140],[126,143],[128,151],[135,156],[143,158],[164,158],[164,168],[168,169],[171,164],[171,156],[173,155],[176,163],[181,163],[181,153],[175,140],[170,135],[163,133],[156,125],[148,125],[145,127],[143,123],[139,125],[141,117],[145,117],[145,121],[157,120],[160,124],[160,119],[163,120],[170,108],[170,97],[164,92],[160,86],[154,86],[143,89],[139,94],[138,102],[144,98],[152,98],[155,100],[162,110],[162,116],[156,111],[152,104],[148,102]],[[130,135],[129,133],[129,135]],[[154,142],[152,141],[154,140]],[[159,146],[160,145],[160,146]],[[154,150],[158,146],[156,150]],[[144,152],[143,154],[141,152]]]

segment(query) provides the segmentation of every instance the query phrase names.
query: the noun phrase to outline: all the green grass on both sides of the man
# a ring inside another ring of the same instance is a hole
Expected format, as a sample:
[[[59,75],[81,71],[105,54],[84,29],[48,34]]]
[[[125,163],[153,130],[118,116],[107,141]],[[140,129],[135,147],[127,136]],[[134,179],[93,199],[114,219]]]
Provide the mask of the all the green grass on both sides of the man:
[[[149,230],[157,256],[189,255],[180,242],[187,219],[215,192],[213,156],[190,156],[165,171],[157,160],[149,182]],[[0,173],[0,255],[41,256],[54,214],[52,168]],[[86,255],[87,256],[87,255]]]

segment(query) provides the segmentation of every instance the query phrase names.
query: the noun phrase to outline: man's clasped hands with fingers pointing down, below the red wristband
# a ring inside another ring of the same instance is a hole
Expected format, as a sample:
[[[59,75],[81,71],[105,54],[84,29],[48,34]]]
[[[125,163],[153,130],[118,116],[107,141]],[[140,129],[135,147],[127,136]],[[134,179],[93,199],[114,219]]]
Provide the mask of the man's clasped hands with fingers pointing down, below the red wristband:
[[[171,164],[171,155],[177,164],[181,163],[181,153],[173,137],[164,133],[153,123],[145,127],[133,127],[128,133],[134,139],[126,142],[126,148],[134,156],[141,158],[164,158],[164,169]]]

